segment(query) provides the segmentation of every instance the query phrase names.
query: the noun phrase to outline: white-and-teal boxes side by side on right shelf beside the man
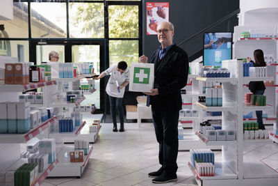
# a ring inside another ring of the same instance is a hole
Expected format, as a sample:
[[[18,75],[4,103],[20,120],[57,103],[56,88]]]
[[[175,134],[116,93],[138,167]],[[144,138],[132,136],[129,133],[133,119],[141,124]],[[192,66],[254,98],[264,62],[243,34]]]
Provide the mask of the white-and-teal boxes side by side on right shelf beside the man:
[[[222,107],[222,88],[206,88],[206,106]]]

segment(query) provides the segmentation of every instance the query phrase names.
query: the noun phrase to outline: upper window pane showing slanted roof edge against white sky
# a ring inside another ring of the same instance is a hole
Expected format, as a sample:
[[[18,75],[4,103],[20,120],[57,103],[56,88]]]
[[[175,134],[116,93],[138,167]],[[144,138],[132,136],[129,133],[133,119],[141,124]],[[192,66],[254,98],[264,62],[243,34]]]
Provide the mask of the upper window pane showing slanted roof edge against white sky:
[[[31,3],[32,38],[66,38],[66,15],[66,3]]]

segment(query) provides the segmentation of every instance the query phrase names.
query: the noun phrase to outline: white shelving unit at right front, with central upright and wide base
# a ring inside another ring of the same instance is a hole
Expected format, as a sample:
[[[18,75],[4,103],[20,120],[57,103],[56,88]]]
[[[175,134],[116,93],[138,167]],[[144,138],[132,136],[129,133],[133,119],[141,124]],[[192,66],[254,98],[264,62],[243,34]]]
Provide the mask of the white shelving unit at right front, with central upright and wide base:
[[[193,169],[193,166],[189,163],[190,169],[193,171],[197,183],[199,185],[277,185],[278,173],[274,169],[271,169],[263,162],[249,162],[245,160],[243,155],[243,148],[245,145],[258,144],[258,143],[269,143],[270,140],[243,140],[243,111],[256,111],[256,110],[268,110],[272,106],[256,107],[250,106],[245,107],[243,104],[243,85],[246,83],[243,78],[243,61],[242,60],[227,60],[222,61],[222,67],[228,68],[231,71],[233,77],[236,77],[236,84],[229,82],[222,82],[223,89],[223,105],[234,105],[234,109],[224,109],[219,107],[219,111],[222,111],[222,129],[224,130],[235,130],[236,141],[207,141],[204,137],[200,137],[206,144],[221,144],[222,142],[222,162],[224,166],[228,167],[223,170],[218,169],[218,164],[215,164],[216,176],[201,177],[197,174],[197,171]],[[270,77],[271,78],[271,77]],[[256,79],[257,81],[261,79]],[[202,81],[200,79],[200,81]],[[197,104],[202,109],[211,109],[211,107],[204,107],[204,104]],[[249,106],[249,105],[248,105]],[[272,107],[273,108],[273,107]],[[213,109],[215,111],[216,109]],[[197,133],[198,134],[198,133]],[[198,134],[199,135],[199,134]],[[231,143],[231,144],[230,144]],[[218,160],[215,160],[216,162]],[[222,173],[222,174],[221,174]]]

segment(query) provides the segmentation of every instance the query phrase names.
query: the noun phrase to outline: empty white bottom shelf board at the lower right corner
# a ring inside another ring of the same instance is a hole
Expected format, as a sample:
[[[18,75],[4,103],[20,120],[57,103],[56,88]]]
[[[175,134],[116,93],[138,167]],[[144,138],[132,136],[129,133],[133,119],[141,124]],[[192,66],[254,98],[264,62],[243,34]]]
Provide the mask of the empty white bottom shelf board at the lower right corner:
[[[278,178],[278,172],[261,161],[244,161],[243,170],[245,179]]]

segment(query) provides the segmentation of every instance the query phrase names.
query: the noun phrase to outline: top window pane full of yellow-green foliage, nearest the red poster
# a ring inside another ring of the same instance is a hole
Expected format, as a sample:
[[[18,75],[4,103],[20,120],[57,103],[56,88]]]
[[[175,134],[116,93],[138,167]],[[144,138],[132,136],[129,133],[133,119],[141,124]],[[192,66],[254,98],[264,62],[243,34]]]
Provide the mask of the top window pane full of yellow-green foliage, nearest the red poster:
[[[138,38],[138,6],[108,7],[109,38]]]

